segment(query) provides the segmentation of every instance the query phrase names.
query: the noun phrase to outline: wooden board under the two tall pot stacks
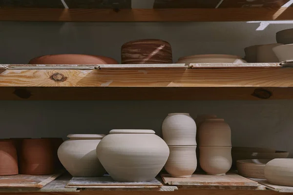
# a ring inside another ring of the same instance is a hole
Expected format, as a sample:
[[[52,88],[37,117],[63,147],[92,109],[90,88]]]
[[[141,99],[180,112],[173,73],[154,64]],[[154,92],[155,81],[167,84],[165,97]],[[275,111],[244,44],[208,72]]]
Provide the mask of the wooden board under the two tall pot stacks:
[[[189,186],[248,186],[257,188],[260,186],[255,181],[239,176],[234,173],[227,173],[225,176],[211,176],[195,174],[187,178],[171,177],[162,174],[165,184],[169,185],[189,185]]]

